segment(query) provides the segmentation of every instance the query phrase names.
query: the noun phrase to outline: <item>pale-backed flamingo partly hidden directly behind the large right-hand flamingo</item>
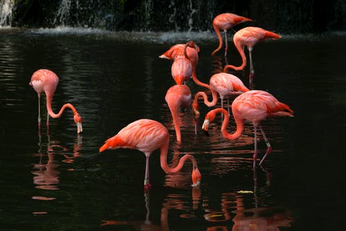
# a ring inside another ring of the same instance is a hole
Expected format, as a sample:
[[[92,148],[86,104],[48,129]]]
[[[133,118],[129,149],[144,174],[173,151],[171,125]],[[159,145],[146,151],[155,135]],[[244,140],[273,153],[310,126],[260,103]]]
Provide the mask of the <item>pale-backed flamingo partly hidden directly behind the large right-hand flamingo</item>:
[[[244,85],[242,80],[240,80],[237,76],[234,76],[233,74],[228,73],[217,73],[212,75],[209,80],[208,88],[212,92],[212,101],[208,101],[208,96],[205,92],[197,92],[197,94],[194,95],[194,101],[192,103],[192,108],[194,112],[195,117],[199,117],[199,105],[198,105],[198,99],[200,97],[203,97],[204,103],[208,107],[215,106],[217,103],[217,93],[220,96],[221,99],[221,108],[224,108],[224,97],[230,96],[230,95],[239,95],[243,92],[248,92],[249,89]],[[229,99],[228,100],[228,113],[229,113]]]

